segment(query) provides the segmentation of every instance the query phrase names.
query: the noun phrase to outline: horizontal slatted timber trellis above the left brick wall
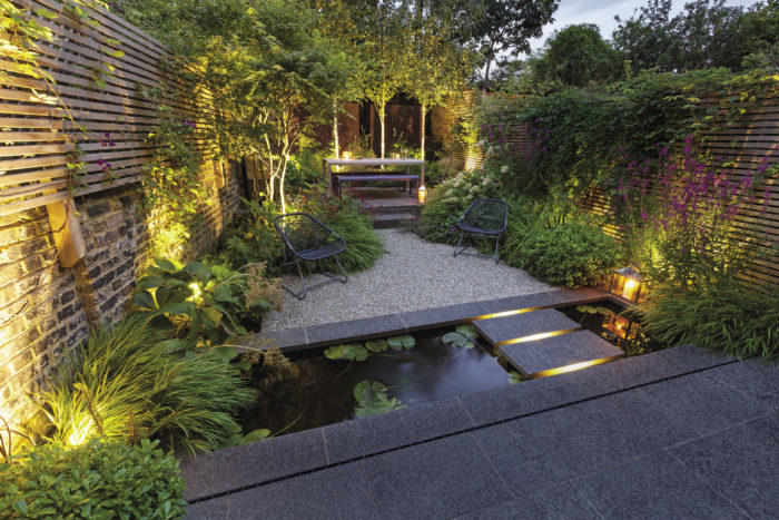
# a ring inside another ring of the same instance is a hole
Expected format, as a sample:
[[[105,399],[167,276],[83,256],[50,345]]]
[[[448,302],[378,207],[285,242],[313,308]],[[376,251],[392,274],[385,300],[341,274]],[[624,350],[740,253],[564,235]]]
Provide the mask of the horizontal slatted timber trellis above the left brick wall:
[[[56,1],[12,3],[57,17],[37,19],[53,36],[36,49],[52,81],[0,58],[0,216],[47,206],[53,224],[73,196],[138,183],[158,124],[158,104],[144,90],[160,86],[175,117],[196,126],[204,168],[214,168],[201,137],[209,94],[167,72],[183,65],[162,43],[102,8],[90,9],[87,23]]]

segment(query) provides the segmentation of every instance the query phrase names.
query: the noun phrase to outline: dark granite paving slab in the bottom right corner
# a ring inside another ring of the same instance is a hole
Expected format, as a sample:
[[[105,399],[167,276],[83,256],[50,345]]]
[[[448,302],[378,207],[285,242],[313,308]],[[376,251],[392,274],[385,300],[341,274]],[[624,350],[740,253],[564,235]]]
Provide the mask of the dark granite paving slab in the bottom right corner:
[[[779,414],[694,439],[668,452],[752,518],[777,518]]]

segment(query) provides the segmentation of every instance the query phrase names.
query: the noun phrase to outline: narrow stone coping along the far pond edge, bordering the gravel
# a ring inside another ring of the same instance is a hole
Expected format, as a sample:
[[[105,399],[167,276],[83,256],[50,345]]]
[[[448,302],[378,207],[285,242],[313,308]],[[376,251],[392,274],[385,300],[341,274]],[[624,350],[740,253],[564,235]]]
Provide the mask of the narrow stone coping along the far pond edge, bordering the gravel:
[[[365,341],[374,337],[406,334],[424,328],[456,325],[502,312],[563,307],[605,298],[609,298],[608,293],[589,287],[559,290],[325,325],[260,332],[257,336],[260,339],[260,344],[270,341],[273,345],[278,346],[283,352],[295,352],[328,346],[335,343]]]

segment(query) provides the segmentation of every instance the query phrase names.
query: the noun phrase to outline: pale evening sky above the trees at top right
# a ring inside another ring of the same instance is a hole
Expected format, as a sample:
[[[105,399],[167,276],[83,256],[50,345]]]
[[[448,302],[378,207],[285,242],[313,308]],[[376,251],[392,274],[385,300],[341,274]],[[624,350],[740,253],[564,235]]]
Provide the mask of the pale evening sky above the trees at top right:
[[[603,38],[611,38],[611,32],[617,28],[614,14],[623,20],[629,19],[633,11],[645,6],[647,0],[561,0],[558,11],[554,13],[554,23],[544,27],[543,38],[531,40],[533,50],[541,48],[546,38],[555,30],[563,29],[573,23],[595,23],[601,29]],[[727,0],[728,6],[751,6],[755,1]],[[684,8],[684,0],[673,0],[673,14]]]

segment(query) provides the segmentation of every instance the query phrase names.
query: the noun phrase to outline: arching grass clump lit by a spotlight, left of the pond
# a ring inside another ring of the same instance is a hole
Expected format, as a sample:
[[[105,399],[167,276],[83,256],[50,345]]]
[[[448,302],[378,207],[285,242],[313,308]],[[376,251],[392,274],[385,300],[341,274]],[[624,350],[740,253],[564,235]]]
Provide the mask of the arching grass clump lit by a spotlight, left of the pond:
[[[240,431],[234,414],[254,398],[226,363],[229,347],[177,351],[141,316],[95,333],[40,394],[55,440],[130,443],[157,436],[189,451],[215,450]]]

